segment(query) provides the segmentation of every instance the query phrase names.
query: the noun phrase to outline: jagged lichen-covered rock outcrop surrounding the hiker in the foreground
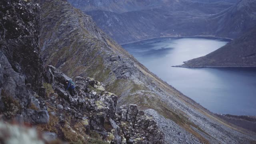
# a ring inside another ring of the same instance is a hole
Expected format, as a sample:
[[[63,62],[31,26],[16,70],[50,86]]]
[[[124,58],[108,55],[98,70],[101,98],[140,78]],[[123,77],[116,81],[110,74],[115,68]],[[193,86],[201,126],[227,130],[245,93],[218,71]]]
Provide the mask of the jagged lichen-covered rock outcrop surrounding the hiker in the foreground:
[[[38,99],[44,102],[41,107],[48,106],[50,119],[54,117],[57,120],[52,125],[40,126],[42,130],[56,130],[69,142],[86,142],[89,135],[113,144],[163,144],[164,134],[156,122],[138,110],[136,105],[118,108],[118,96],[105,91],[102,83],[79,76],[75,78],[76,95],[71,96],[63,85],[70,78],[53,66],[48,68],[54,92],[48,100]],[[76,133],[80,137],[73,139],[68,133]]]

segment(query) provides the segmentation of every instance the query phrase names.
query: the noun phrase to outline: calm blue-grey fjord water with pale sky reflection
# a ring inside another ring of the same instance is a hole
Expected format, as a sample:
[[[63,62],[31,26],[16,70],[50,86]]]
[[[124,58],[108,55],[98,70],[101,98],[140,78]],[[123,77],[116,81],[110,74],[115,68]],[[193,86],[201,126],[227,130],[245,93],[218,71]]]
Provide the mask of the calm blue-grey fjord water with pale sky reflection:
[[[212,37],[156,38],[123,45],[163,80],[212,112],[256,115],[256,68],[174,68],[229,40]]]

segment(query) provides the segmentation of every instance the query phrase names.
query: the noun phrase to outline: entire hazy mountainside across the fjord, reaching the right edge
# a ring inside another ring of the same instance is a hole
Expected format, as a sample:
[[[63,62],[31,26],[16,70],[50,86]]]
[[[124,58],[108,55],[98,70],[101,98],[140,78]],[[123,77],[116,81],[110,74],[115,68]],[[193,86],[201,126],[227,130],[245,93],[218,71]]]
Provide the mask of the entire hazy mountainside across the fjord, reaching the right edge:
[[[92,16],[96,24],[119,44],[162,36],[236,38],[256,23],[255,0],[240,0],[236,4],[150,0],[145,6],[114,0],[69,2]],[[117,3],[125,11],[109,8]],[[126,7],[136,9],[126,10]]]

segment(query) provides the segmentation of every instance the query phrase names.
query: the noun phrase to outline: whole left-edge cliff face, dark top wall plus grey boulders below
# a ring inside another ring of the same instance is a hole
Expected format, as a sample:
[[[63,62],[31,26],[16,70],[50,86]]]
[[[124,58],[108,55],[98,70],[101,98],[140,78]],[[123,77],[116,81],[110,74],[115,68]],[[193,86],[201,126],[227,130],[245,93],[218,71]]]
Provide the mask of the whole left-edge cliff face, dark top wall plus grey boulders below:
[[[0,2],[0,113],[6,119],[31,124],[49,121],[46,110],[32,110],[44,79],[40,59],[38,4],[23,0]]]

